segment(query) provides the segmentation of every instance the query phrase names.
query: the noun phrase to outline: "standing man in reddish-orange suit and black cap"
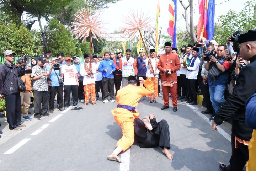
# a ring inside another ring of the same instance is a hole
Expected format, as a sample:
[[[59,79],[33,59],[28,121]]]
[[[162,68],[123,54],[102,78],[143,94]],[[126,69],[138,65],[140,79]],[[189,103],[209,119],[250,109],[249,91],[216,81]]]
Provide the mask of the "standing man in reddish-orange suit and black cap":
[[[164,96],[164,106],[161,110],[169,108],[169,91],[171,92],[173,111],[177,109],[177,73],[176,71],[181,68],[180,60],[177,54],[171,52],[171,43],[165,43],[165,54],[160,56],[157,68],[160,70],[162,81],[162,92]]]

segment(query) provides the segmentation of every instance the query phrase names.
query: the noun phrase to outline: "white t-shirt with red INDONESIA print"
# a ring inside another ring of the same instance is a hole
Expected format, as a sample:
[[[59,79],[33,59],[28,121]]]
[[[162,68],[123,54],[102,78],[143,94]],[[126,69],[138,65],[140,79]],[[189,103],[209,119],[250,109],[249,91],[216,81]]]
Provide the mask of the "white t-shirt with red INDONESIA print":
[[[62,65],[61,70],[64,75],[64,85],[76,85],[75,75],[77,70],[75,65]]]

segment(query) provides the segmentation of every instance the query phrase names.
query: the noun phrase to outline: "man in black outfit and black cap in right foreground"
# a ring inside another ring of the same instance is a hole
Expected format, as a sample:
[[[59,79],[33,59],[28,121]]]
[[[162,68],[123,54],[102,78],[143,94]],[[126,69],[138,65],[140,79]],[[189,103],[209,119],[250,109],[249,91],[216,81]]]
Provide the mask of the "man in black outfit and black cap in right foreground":
[[[230,165],[220,164],[220,170],[242,171],[248,161],[248,141],[251,139],[252,129],[245,123],[245,102],[256,92],[256,31],[248,31],[238,36],[240,54],[244,60],[250,60],[239,73],[233,93],[229,96],[222,108],[212,122],[212,130],[217,130],[216,126],[232,120],[232,141],[233,153],[230,158]],[[233,136],[232,136],[233,137]],[[234,148],[235,147],[235,148]]]

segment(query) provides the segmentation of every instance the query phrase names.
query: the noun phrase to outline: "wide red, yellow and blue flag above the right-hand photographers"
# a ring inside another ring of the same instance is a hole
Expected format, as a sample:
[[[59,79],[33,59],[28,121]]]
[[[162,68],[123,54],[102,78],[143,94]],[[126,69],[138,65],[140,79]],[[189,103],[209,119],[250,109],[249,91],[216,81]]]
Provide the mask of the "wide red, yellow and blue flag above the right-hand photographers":
[[[215,0],[198,0],[199,20],[197,24],[197,39],[205,37],[212,40],[214,36]]]

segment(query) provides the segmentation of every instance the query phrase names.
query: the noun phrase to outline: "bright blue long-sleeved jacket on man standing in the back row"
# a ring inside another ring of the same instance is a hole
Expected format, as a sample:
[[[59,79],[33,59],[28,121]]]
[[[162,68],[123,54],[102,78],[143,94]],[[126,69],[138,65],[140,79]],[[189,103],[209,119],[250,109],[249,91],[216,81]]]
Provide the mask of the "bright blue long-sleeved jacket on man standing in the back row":
[[[104,70],[108,68],[108,71],[105,72]],[[102,60],[100,62],[98,70],[102,72],[102,78],[114,78],[113,72],[116,71],[116,65],[114,64],[113,60]],[[111,73],[112,70],[112,73]],[[110,74],[111,73],[111,74]]]

